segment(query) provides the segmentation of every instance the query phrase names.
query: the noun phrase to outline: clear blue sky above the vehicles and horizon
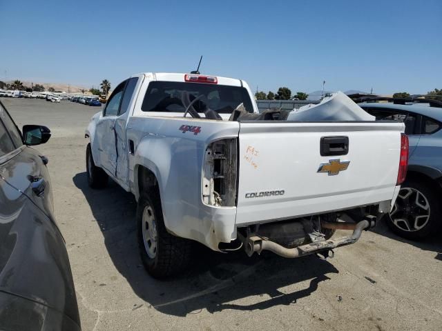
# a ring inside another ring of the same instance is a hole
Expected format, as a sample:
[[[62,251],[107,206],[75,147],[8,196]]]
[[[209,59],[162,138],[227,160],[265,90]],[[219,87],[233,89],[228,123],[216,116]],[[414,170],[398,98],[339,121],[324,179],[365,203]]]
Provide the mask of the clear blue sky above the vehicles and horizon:
[[[253,91],[442,88],[442,1],[0,0],[0,80],[113,87],[137,72]]]

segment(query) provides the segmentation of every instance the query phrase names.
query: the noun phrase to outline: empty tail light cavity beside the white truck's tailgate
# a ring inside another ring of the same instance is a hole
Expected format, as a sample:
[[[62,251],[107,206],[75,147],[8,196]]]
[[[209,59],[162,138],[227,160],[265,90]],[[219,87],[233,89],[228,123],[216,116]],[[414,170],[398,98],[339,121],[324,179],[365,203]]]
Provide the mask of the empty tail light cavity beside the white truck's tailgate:
[[[206,205],[236,205],[237,172],[236,139],[222,139],[211,143],[204,156],[202,201]]]

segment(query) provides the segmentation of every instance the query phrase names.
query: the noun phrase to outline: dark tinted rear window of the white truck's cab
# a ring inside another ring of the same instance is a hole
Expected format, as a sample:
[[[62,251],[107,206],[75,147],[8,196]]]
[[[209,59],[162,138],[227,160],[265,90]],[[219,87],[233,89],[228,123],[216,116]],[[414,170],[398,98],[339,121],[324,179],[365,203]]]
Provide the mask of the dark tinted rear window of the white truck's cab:
[[[249,93],[239,86],[225,86],[204,83],[183,83],[177,81],[153,81],[144,96],[142,111],[144,112],[184,112],[186,94],[190,101],[195,101],[193,107],[198,112],[208,109],[218,114],[230,114],[241,103],[247,112],[253,112]]]

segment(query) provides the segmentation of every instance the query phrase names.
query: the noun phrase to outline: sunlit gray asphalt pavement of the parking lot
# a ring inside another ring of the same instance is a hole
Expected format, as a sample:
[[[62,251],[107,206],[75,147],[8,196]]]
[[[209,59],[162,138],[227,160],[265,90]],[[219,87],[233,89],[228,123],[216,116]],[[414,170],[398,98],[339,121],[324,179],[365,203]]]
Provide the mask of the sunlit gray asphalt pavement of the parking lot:
[[[138,256],[134,197],[115,183],[88,188],[84,129],[100,108],[2,102],[19,127],[52,131],[37,149],[49,159],[83,330],[442,330],[442,234],[405,241],[382,223],[334,259],[201,248],[191,270],[155,281]]]

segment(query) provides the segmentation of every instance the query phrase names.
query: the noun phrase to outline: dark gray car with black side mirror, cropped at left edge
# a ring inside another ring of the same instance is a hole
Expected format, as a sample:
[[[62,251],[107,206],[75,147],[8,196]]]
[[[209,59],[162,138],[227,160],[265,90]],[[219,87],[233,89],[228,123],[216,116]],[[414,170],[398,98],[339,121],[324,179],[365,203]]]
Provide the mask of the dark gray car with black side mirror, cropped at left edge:
[[[80,330],[68,254],[53,215],[48,160],[0,102],[0,330]],[[24,141],[24,143],[23,143]]]

